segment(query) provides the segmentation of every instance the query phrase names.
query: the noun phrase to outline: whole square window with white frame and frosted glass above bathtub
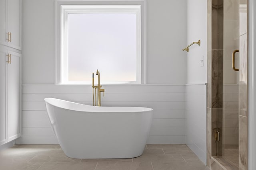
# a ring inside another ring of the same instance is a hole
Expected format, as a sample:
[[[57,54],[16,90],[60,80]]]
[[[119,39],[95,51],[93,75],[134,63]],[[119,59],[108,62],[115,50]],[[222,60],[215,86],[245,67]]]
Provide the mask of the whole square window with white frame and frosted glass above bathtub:
[[[101,84],[144,83],[141,4],[61,3],[56,5],[57,84],[91,84],[97,68]]]

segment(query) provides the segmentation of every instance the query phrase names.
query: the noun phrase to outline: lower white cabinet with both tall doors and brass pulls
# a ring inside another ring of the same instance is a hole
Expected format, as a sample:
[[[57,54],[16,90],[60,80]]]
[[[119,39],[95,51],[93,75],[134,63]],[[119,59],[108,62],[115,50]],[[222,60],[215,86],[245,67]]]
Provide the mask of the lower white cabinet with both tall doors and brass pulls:
[[[0,46],[0,145],[21,136],[21,54]]]

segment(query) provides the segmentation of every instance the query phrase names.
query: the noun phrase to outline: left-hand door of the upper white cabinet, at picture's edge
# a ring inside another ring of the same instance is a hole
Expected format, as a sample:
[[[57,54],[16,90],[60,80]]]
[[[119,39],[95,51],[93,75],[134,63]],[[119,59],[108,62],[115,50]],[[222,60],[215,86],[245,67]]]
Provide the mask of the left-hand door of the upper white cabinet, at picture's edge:
[[[0,0],[0,44],[7,45],[6,0]]]

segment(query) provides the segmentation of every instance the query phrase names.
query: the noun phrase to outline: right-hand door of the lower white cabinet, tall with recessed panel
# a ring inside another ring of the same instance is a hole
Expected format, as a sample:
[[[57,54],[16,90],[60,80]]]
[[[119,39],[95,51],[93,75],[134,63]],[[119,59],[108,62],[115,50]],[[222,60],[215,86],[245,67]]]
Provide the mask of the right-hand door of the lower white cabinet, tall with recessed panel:
[[[10,64],[7,64],[7,112],[8,112],[8,140],[20,137],[20,64],[21,55],[8,51],[11,55]]]

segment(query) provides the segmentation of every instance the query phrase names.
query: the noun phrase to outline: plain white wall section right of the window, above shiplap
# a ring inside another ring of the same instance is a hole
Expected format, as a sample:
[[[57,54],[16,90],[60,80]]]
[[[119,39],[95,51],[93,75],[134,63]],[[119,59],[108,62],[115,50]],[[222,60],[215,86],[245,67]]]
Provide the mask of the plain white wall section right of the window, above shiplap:
[[[186,0],[148,0],[147,82],[186,82]]]

